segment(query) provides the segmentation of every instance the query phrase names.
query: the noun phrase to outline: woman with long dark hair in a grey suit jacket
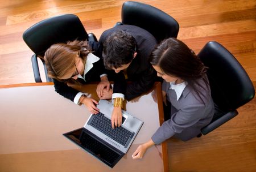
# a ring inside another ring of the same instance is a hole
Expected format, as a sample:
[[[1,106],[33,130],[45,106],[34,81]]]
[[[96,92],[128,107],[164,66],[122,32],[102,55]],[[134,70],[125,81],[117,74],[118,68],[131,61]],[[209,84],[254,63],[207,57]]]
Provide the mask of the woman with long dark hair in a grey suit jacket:
[[[142,158],[149,147],[172,136],[183,141],[196,137],[214,114],[207,67],[187,45],[176,38],[168,38],[152,51],[150,62],[164,79],[163,101],[171,106],[170,119],[149,141],[139,145],[133,159]]]

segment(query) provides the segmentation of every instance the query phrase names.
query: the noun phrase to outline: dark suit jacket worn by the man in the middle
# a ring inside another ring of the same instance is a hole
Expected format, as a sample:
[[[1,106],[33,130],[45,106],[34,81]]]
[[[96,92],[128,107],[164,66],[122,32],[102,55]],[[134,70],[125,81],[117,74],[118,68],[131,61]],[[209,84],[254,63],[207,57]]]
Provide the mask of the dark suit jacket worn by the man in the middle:
[[[127,68],[127,80],[125,80],[122,71],[118,74],[112,71],[112,75],[114,76],[113,93],[125,94],[126,99],[131,100],[147,92],[156,80],[156,72],[154,68],[152,68],[148,58],[157,42],[151,33],[142,28],[134,25],[118,25],[102,33],[99,40],[100,44],[103,46],[106,38],[113,32],[119,30],[126,31],[135,38],[137,43],[137,56]],[[127,81],[131,82],[127,83]]]

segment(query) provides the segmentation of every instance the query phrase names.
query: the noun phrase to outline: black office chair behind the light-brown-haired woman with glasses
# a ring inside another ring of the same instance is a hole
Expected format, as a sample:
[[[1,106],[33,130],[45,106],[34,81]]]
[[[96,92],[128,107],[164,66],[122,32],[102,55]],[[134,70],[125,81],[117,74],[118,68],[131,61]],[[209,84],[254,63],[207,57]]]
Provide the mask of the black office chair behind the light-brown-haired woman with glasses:
[[[38,57],[44,57],[45,51],[52,45],[60,42],[73,40],[97,41],[93,33],[87,33],[80,19],[74,14],[65,14],[45,19],[32,25],[23,33],[23,40],[35,53],[32,55],[32,67],[36,83],[42,82],[38,66]],[[47,69],[43,58],[40,58],[44,65],[46,80],[52,81],[48,77]]]

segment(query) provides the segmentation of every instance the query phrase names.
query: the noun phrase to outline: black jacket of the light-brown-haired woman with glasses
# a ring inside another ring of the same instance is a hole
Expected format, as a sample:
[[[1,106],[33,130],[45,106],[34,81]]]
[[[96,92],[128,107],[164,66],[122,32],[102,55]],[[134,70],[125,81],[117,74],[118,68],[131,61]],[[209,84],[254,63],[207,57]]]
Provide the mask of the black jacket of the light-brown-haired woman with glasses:
[[[85,80],[78,78],[77,81],[79,81],[82,84],[88,83],[90,81],[100,81],[100,75],[107,74],[107,70],[105,70],[103,59],[102,59],[102,47],[98,42],[89,42],[90,47],[92,48],[93,54],[100,58],[99,61],[93,63],[93,68],[90,69],[85,74]],[[74,101],[74,98],[79,91],[76,89],[73,89],[71,87],[68,87],[68,85],[64,82],[58,81],[56,79],[53,79],[55,91],[59,93],[61,96],[64,96],[68,98],[71,101]]]

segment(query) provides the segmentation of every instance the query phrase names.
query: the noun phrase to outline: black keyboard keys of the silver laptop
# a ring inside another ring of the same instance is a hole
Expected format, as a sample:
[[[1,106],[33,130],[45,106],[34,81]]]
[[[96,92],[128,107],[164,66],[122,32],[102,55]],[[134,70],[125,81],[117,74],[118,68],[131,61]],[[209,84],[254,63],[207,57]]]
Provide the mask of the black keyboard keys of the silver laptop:
[[[109,118],[104,117],[104,114],[100,112],[94,115],[94,118],[88,124],[96,128],[98,131],[101,131],[103,134],[109,136],[111,139],[117,141],[117,143],[123,146],[125,146],[127,140],[132,134],[132,132],[126,130],[122,126],[115,127],[113,129],[111,126],[111,120]]]

